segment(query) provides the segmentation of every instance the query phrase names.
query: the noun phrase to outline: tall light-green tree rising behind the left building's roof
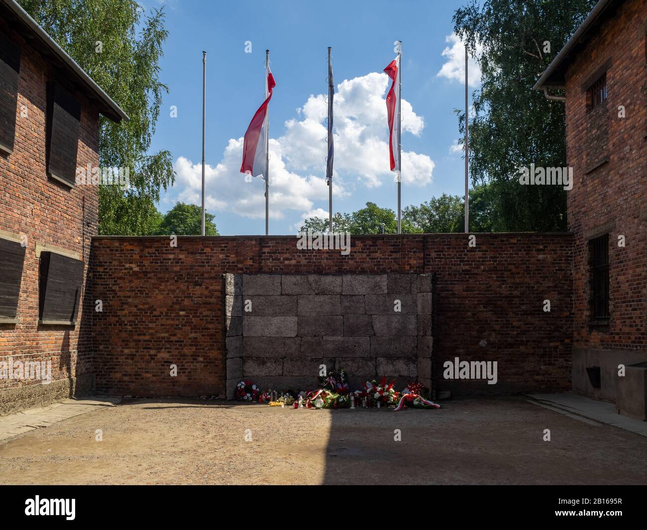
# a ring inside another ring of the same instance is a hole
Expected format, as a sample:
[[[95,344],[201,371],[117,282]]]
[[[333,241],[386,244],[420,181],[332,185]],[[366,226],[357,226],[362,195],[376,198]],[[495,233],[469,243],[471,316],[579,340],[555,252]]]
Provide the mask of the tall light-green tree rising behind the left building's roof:
[[[130,186],[99,188],[100,234],[144,235],[155,225],[160,190],[173,184],[171,153],[149,153],[159,116],[163,9],[148,13],[133,0],[19,0],[130,120],[100,118],[101,166],[129,168]],[[100,42],[100,52],[97,46]]]

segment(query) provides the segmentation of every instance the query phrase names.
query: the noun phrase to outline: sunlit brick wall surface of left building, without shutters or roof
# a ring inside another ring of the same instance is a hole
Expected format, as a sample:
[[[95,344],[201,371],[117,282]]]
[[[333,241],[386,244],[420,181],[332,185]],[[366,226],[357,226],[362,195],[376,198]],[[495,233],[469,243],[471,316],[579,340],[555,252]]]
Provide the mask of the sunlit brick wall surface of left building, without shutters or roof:
[[[47,81],[52,67],[4,20],[0,27],[22,47],[17,96],[16,141],[10,155],[0,156],[0,236],[27,237],[17,324],[0,324],[0,361],[51,361],[50,385],[39,381],[0,379],[0,414],[52,399],[68,397],[77,384],[91,386],[91,337],[87,305],[76,326],[38,324],[36,247],[52,245],[89,262],[91,236],[97,230],[95,186],[69,188],[50,179],[45,166]],[[98,166],[98,110],[82,94],[78,164]],[[23,116],[23,105],[27,116]],[[84,274],[85,274],[84,272]],[[85,276],[84,276],[85,277]],[[85,282],[83,282],[85,285]],[[85,291],[82,293],[82,300]]]

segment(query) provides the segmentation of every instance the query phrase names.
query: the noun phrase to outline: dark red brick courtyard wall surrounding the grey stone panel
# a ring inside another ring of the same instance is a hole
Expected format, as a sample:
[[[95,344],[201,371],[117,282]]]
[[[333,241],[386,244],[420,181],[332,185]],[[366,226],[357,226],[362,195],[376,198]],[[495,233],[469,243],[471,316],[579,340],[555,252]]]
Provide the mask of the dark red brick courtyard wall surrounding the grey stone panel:
[[[351,252],[297,250],[296,236],[94,237],[96,386],[132,395],[221,395],[224,274],[432,274],[433,388],[570,386],[571,234],[353,236]],[[543,311],[550,300],[551,311]],[[498,383],[443,378],[447,360],[497,361]],[[170,365],[177,364],[177,377]]]

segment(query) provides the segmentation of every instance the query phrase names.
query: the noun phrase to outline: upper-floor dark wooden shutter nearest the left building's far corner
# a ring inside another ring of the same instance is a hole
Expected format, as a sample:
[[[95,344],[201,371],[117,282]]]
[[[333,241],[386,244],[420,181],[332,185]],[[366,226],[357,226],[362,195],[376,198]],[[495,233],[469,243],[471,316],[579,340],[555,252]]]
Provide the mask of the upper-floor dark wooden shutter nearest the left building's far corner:
[[[47,83],[47,172],[74,186],[81,105],[59,83]]]

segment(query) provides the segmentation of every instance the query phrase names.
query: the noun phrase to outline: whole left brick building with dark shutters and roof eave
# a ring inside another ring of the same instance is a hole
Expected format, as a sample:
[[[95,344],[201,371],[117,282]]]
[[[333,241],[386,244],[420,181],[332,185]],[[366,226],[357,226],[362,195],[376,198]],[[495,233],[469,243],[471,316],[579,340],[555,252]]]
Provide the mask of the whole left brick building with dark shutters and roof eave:
[[[91,309],[91,300],[83,302],[97,186],[77,184],[76,168],[99,165],[100,113],[116,121],[127,116],[13,0],[0,0],[0,85],[6,414],[93,388],[90,329],[82,317]],[[41,384],[46,373],[51,381]]]

